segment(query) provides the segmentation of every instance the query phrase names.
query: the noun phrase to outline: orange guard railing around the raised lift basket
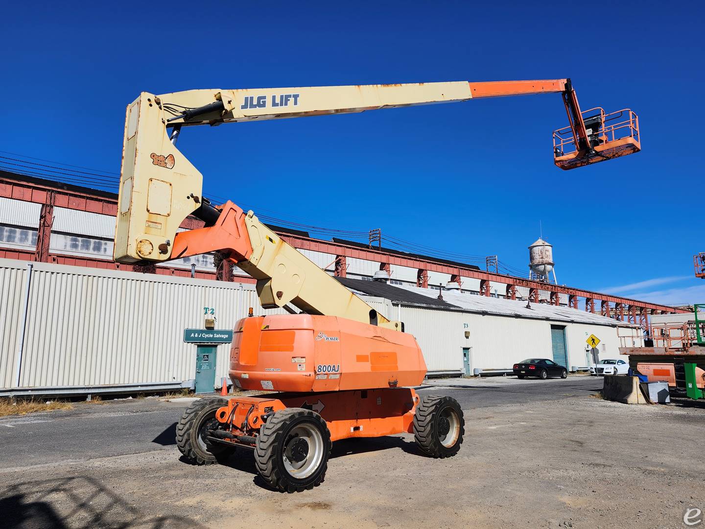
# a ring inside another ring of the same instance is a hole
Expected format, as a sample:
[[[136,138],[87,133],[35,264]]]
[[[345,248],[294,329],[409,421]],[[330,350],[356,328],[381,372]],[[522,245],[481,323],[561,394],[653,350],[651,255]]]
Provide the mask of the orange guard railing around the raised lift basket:
[[[631,109],[622,109],[611,114],[605,114],[601,107],[582,111],[583,119],[600,116],[601,126],[599,130],[593,131],[596,138],[601,140],[601,145],[608,144],[623,138],[633,138],[639,142],[639,118]],[[575,136],[570,126],[559,128],[553,131],[553,152],[555,155],[564,156],[577,151]]]

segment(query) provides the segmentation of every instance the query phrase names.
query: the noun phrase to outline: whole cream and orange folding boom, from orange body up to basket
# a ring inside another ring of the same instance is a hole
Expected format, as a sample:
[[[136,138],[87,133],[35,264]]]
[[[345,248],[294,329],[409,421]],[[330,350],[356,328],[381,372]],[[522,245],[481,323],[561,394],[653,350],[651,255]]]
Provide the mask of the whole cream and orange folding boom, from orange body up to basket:
[[[219,209],[209,205],[202,195],[202,175],[176,148],[180,129],[551,92],[563,93],[575,145],[580,149],[576,154],[560,152],[562,159],[570,159],[566,163],[571,165],[564,168],[639,150],[632,141],[634,148],[627,142],[615,147],[625,149],[621,154],[610,154],[605,148],[609,142],[587,138],[567,79],[188,90],[158,96],[142,92],[128,106],[125,119],[114,258],[127,263],[164,262],[225,250],[257,279],[264,307],[286,308],[291,303],[312,314],[376,321],[367,303],[282,241],[252,212],[245,214],[231,202]],[[595,153],[588,140],[601,142],[595,149],[606,154]],[[589,156],[587,150],[591,150]],[[190,214],[204,220],[206,227],[178,233]],[[381,317],[377,322],[398,326]]]

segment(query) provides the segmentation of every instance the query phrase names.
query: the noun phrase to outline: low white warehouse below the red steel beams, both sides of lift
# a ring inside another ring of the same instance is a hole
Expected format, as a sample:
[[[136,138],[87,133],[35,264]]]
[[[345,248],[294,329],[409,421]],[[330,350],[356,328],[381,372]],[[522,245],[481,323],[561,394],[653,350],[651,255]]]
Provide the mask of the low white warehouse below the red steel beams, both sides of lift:
[[[462,375],[511,367],[528,357],[587,365],[585,339],[601,339],[601,358],[617,358],[623,322],[570,308],[470,293],[343,279],[416,336],[429,372]],[[193,387],[195,346],[183,330],[200,328],[213,308],[216,328],[232,329],[262,310],[255,285],[226,281],[0,260],[0,395],[95,394]],[[216,382],[227,376],[219,347]]]

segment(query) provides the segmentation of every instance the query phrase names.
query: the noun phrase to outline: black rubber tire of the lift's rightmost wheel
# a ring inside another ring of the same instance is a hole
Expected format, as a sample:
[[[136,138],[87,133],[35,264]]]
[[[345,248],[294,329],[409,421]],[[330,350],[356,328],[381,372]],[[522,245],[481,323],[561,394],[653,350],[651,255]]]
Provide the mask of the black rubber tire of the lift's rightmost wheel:
[[[458,438],[451,446],[444,446],[439,435],[439,419],[446,408],[452,408],[460,421]],[[414,413],[414,438],[425,454],[436,458],[453,457],[458,454],[465,435],[465,418],[458,401],[449,396],[426,395]]]

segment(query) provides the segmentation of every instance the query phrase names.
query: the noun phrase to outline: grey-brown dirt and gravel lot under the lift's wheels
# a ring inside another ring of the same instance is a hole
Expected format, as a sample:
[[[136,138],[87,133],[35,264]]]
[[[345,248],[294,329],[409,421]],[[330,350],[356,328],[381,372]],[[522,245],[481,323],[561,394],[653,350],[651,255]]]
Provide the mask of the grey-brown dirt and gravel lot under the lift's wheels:
[[[2,461],[0,526],[677,528],[705,511],[705,408],[566,396],[465,414],[455,458],[408,435],[338,442],[324,484],[300,494],[267,490],[244,451],[195,467],[171,444],[82,458],[77,440],[75,461]]]

